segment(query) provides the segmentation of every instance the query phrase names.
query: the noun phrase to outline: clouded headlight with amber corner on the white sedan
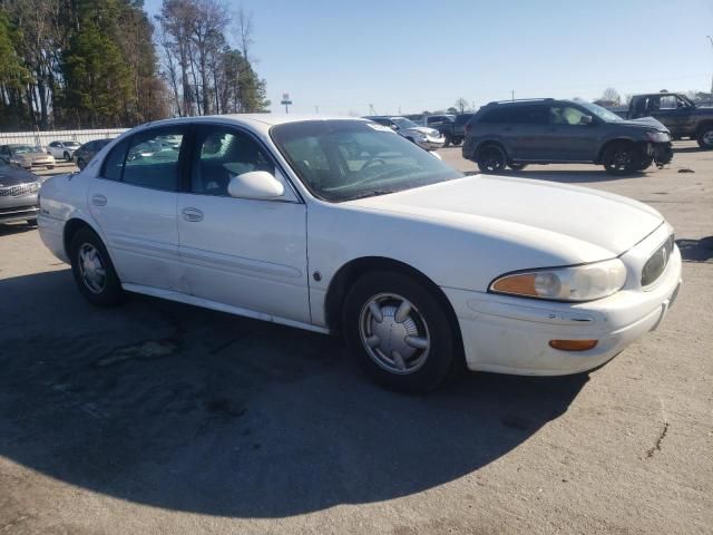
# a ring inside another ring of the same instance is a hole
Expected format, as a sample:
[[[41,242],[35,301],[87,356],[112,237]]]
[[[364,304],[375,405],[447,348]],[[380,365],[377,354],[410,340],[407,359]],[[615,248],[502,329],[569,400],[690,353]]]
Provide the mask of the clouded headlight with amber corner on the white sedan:
[[[553,268],[506,274],[490,292],[553,301],[594,301],[618,292],[626,282],[619,259],[572,268]]]

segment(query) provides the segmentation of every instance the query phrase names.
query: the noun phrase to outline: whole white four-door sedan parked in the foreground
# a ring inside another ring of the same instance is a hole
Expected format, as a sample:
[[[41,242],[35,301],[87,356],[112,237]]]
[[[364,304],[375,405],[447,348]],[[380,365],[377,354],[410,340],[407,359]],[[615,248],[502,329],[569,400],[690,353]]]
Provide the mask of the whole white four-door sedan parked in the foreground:
[[[176,150],[140,156],[176,136]],[[568,185],[463,176],[361,119],[192,117],[124,134],[41,188],[40,235],[81,293],[138,292],[341,332],[382,385],[596,368],[681,283],[655,210]]]

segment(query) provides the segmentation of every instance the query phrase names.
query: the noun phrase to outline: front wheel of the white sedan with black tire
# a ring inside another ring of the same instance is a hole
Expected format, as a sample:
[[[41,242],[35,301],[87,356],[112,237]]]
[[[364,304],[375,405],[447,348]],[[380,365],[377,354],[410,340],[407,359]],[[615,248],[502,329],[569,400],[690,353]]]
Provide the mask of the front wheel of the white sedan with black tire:
[[[371,313],[372,309],[368,307],[374,299],[383,299],[380,301],[384,303],[383,308],[379,309],[384,312],[381,322],[377,321]],[[395,319],[395,304],[403,300],[408,300],[412,308],[409,315],[399,322]],[[389,321],[390,325],[387,331],[382,331],[389,333],[388,340],[369,349],[365,340],[374,335],[369,335],[370,325],[373,325],[375,333],[379,332],[379,324],[384,321]],[[456,351],[455,325],[451,325],[447,311],[433,291],[408,275],[381,271],[358,279],[344,300],[342,327],[350,353],[375,382],[390,390],[423,393],[441,385],[457,369],[455,364],[460,353]],[[407,332],[416,332],[418,337],[413,338],[426,339],[428,348],[412,349],[403,346]],[[397,356],[397,351],[393,351],[388,359],[383,359],[385,353],[382,346],[387,348],[387,352],[390,348],[404,348],[404,357]],[[409,354],[408,351],[413,353]],[[391,363],[388,362],[389,359]],[[412,367],[412,370],[397,371],[399,361],[406,366],[403,370],[408,370],[408,367]]]

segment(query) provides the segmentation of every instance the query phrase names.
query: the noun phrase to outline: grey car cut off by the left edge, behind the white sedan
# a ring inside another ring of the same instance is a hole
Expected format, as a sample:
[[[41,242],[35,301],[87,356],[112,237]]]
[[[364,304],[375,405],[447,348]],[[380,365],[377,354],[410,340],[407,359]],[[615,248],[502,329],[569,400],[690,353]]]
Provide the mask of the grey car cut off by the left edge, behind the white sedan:
[[[0,160],[0,223],[35,223],[39,214],[40,177]]]

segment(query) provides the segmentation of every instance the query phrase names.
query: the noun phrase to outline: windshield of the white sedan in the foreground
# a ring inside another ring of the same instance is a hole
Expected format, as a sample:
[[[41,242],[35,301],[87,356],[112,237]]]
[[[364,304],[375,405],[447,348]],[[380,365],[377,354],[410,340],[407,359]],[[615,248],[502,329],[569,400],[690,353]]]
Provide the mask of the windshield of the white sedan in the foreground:
[[[463,175],[389,127],[362,120],[307,120],[271,135],[304,185],[339,203],[460,178]]]

